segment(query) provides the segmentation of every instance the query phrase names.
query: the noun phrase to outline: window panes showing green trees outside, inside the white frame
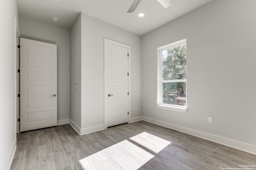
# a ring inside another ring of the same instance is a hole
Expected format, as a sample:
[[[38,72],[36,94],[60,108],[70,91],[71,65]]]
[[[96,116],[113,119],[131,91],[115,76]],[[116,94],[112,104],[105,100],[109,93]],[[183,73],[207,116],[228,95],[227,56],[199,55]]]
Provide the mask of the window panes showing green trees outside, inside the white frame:
[[[161,52],[162,104],[186,106],[186,44]]]

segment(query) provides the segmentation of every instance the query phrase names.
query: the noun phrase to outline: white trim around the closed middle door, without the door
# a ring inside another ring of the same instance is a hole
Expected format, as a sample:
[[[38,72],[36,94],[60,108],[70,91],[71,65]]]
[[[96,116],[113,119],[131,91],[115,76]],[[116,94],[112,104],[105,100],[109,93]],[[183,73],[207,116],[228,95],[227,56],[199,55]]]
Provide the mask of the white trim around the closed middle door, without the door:
[[[129,115],[128,115],[128,123],[130,123],[131,121],[131,75],[130,75],[130,71],[131,71],[131,60],[130,60],[130,57],[131,57],[131,46],[130,45],[127,45],[127,44],[124,44],[124,43],[119,43],[117,41],[113,41],[113,40],[110,40],[110,39],[106,39],[104,38],[104,126],[105,126],[105,129],[108,128],[108,102],[107,102],[107,95],[108,95],[108,88],[107,88],[107,80],[108,80],[108,75],[106,74],[108,72],[108,68],[106,67],[107,65],[107,60],[106,60],[106,44],[107,43],[110,43],[110,44],[113,44],[113,45],[118,45],[118,46],[121,46],[121,47],[126,47],[128,49],[128,73],[129,73],[129,76],[128,76],[128,92],[129,92],[129,95],[128,95],[128,112],[129,112]]]

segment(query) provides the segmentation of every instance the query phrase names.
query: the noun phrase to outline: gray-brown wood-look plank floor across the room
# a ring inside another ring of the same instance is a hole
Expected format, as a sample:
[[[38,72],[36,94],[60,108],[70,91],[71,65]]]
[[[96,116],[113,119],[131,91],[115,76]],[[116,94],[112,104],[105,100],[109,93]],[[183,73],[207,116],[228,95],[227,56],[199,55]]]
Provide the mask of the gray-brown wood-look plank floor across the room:
[[[144,142],[140,141],[140,137],[138,138],[136,136],[140,133],[150,134],[152,138],[162,138],[164,140],[161,140],[164,143],[167,141],[170,144],[166,143],[167,146],[163,147],[162,150],[158,150],[158,153],[156,153],[146,148],[147,146],[144,145]],[[135,147],[131,145],[131,149],[139,147],[138,152],[127,149],[129,148],[127,147],[128,143],[129,146],[130,143],[136,145],[133,145]],[[86,161],[81,162],[81,160],[89,160],[89,156],[97,157],[96,155],[99,151],[102,152],[102,150],[104,150],[104,153],[108,153],[106,150],[115,147],[113,145],[125,146],[127,153],[130,151],[132,155],[139,155],[145,151],[145,153],[149,153],[149,157],[144,161],[145,164],[139,168],[141,170],[223,170],[256,165],[256,155],[154,125],[146,121],[139,121],[110,127],[82,136],[78,135],[68,124],[17,134],[17,149],[10,169],[88,169],[90,168],[89,166],[85,168],[86,165],[82,165]],[[114,150],[113,152],[116,151]],[[122,159],[126,163],[128,161],[132,164],[132,161],[128,157],[129,155]],[[134,157],[130,157],[134,159]],[[108,164],[108,162],[113,161],[111,159],[109,160],[98,162],[100,165],[98,167],[114,170],[115,168],[113,169]],[[90,163],[93,164],[93,162]],[[118,165],[118,162],[116,164]],[[116,167],[119,169],[135,169],[133,165],[126,165]],[[256,169],[256,167],[248,168]]]

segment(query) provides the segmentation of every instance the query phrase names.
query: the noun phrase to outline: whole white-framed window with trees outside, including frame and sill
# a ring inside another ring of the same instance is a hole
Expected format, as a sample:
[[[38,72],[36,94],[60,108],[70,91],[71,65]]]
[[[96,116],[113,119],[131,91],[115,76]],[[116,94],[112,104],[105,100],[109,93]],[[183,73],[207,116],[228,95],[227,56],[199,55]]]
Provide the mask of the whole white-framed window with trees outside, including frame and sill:
[[[157,106],[186,113],[186,39],[158,48]]]

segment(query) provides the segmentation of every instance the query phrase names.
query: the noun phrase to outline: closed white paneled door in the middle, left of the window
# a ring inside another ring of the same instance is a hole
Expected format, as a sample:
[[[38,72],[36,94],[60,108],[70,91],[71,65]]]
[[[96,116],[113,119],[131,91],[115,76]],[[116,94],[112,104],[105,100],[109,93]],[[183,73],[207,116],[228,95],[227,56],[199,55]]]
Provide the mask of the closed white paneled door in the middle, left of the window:
[[[128,122],[129,46],[105,39],[105,114],[107,126]]]

